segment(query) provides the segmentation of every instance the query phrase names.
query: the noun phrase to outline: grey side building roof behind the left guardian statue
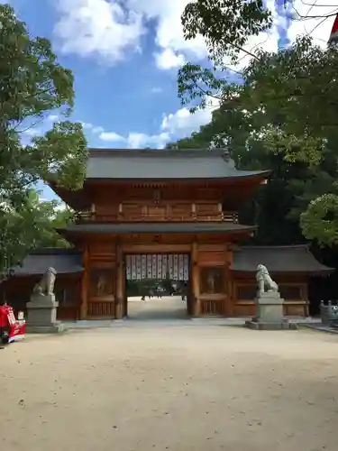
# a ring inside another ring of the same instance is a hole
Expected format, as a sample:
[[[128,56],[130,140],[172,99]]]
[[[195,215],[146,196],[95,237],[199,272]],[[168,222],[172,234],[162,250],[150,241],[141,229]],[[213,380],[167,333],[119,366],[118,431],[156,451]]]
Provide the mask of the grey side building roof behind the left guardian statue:
[[[28,254],[21,266],[15,266],[13,277],[42,275],[48,268],[58,274],[71,274],[84,271],[82,255],[77,249],[41,249]]]

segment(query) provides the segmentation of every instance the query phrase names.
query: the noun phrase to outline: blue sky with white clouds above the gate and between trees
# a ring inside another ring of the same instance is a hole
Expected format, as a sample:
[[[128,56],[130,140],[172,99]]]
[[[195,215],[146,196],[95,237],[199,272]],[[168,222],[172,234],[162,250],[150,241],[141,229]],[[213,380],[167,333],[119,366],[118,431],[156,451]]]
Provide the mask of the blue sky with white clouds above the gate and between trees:
[[[190,115],[177,97],[179,66],[187,60],[206,62],[203,40],[184,41],[182,36],[180,14],[187,0],[0,3],[13,5],[33,35],[49,38],[59,62],[73,70],[76,107],[72,119],[84,123],[91,147],[161,148],[210,120],[210,109]],[[275,51],[305,30],[304,23],[290,20],[292,11],[283,7],[283,0],[266,3],[274,13],[275,26],[269,36],[248,42],[248,49],[262,45]],[[303,3],[297,7],[304,11]],[[315,32],[319,36],[321,28]],[[246,62],[242,60],[243,65]],[[32,133],[47,129],[56,115],[51,112]],[[43,197],[50,196],[50,190],[44,189]]]

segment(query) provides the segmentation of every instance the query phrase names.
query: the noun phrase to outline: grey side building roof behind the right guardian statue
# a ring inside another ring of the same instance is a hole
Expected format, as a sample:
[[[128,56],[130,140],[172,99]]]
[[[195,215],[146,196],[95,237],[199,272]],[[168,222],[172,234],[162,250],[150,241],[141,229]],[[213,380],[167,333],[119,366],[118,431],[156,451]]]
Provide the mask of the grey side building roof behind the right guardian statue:
[[[233,252],[233,264],[230,267],[235,272],[256,272],[258,264],[263,264],[270,273],[330,273],[329,268],[315,260],[306,244],[294,246],[243,246]]]

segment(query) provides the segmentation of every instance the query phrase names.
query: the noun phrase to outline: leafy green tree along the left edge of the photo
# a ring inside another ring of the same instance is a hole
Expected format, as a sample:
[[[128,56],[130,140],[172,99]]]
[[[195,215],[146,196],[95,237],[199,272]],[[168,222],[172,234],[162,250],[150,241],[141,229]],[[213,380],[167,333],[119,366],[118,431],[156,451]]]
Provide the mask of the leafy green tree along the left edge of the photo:
[[[9,5],[0,5],[0,23],[0,272],[5,274],[36,244],[32,186],[54,179],[80,188],[87,141],[82,125],[68,120],[73,76],[59,65],[50,41],[33,38]],[[52,110],[64,120],[24,145],[24,133]]]

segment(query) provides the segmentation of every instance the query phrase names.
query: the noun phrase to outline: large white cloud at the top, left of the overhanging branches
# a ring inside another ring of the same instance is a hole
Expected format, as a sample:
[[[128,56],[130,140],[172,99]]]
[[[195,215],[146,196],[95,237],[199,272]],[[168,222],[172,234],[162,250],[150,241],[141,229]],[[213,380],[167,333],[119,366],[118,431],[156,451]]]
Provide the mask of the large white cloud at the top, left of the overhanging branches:
[[[140,51],[146,21],[156,20],[154,55],[160,69],[177,68],[184,55],[201,59],[206,46],[201,37],[183,38],[180,15],[188,0],[55,0],[59,20],[54,32],[66,53],[99,57],[114,64]]]

